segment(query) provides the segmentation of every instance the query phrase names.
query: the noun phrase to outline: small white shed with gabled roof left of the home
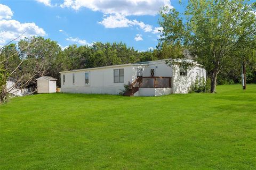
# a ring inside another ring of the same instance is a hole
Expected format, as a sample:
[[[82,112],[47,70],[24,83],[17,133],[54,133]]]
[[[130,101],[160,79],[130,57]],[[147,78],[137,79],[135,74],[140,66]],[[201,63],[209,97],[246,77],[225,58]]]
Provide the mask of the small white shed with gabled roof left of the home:
[[[37,80],[37,93],[38,94],[48,94],[56,92],[56,80],[49,76],[43,76]]]

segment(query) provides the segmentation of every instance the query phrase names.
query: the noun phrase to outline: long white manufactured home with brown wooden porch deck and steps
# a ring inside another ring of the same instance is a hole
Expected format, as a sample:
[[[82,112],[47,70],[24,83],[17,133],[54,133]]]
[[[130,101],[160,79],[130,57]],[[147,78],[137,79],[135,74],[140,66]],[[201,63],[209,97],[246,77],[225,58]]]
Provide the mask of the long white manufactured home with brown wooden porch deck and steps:
[[[197,75],[206,79],[205,69],[199,64],[183,70],[178,65],[167,65],[166,60],[63,71],[60,74],[62,92],[117,95],[125,84],[129,84],[130,89],[125,93],[128,96],[185,94]]]

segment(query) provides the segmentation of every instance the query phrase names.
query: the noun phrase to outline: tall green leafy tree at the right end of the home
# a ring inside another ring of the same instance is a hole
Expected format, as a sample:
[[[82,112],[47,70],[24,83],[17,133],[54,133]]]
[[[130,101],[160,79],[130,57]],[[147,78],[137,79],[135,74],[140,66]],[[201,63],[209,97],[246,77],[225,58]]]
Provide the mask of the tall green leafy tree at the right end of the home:
[[[188,48],[210,73],[211,92],[215,92],[220,71],[230,62],[242,62],[248,57],[233,54],[244,51],[243,44],[255,39],[254,12],[255,4],[245,0],[188,1],[184,13],[165,7],[160,11],[159,23],[163,27],[160,40]]]

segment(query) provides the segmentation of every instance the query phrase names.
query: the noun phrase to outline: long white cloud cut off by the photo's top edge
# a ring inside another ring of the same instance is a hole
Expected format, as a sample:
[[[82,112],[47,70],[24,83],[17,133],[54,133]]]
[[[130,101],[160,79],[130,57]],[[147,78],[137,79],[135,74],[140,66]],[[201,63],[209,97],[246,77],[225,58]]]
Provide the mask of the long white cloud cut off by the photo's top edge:
[[[170,0],[65,0],[61,7],[71,7],[79,10],[81,7],[90,8],[105,14],[122,15],[156,15],[162,6],[171,6]]]

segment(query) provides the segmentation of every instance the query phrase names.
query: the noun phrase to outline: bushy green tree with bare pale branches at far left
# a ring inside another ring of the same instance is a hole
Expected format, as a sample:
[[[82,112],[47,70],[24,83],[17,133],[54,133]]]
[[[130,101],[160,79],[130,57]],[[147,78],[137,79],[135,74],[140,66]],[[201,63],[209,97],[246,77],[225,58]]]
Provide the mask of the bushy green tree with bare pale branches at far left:
[[[4,103],[7,94],[13,90],[36,86],[36,78],[51,67],[54,60],[50,56],[55,55],[52,47],[42,46],[45,42],[41,37],[23,39],[19,41],[19,46],[7,44],[0,49],[0,103]],[[52,54],[53,53],[53,54]],[[49,55],[47,55],[49,54]],[[47,69],[46,69],[47,68]],[[10,78],[14,82],[11,87],[6,87],[6,81]],[[14,91],[15,92],[15,91]]]

